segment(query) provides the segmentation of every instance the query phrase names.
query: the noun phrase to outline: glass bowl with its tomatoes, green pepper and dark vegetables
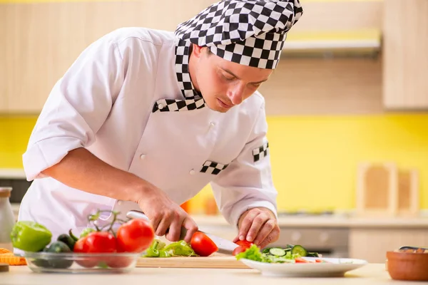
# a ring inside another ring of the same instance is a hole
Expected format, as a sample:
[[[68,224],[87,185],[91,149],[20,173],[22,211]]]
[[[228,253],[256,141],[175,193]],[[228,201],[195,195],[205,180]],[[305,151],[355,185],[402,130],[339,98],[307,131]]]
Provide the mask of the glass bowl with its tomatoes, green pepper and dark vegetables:
[[[52,240],[49,229],[30,221],[16,222],[11,231],[12,244],[21,249],[34,272],[51,273],[126,273],[135,268],[138,258],[151,246],[155,234],[146,219],[117,219],[104,227],[96,220],[102,211],[88,216],[93,227],[79,237],[70,229]],[[113,230],[113,224],[119,223]]]

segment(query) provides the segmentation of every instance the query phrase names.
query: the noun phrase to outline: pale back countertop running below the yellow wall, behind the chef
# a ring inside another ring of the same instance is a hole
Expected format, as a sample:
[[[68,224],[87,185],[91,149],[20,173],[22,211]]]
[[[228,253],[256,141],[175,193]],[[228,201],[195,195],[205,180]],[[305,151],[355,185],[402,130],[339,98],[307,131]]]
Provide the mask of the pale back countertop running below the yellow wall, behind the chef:
[[[19,204],[12,203],[15,216],[18,216]],[[200,227],[231,227],[221,215],[193,214]],[[320,217],[278,217],[280,227],[346,227],[346,228],[422,228],[428,229],[428,217],[350,217],[343,215]]]

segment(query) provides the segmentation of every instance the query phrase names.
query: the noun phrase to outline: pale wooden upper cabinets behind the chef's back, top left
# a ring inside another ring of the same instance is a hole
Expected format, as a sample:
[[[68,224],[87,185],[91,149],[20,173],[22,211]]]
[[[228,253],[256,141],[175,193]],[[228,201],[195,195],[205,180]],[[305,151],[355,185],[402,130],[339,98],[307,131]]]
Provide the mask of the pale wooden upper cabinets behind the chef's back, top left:
[[[173,31],[205,6],[204,1],[63,2],[0,6],[0,34],[6,44],[0,54],[12,113],[39,113],[56,81],[76,57],[97,38],[123,26],[147,26]]]

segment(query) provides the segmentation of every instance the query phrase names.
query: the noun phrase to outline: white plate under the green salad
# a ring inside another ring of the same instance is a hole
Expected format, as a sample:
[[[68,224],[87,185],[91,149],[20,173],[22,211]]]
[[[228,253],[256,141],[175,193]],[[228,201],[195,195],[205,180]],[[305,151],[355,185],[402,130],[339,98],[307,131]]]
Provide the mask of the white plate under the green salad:
[[[362,259],[337,259],[327,257],[303,257],[304,259],[315,261],[321,259],[330,263],[282,263],[272,264],[266,262],[253,261],[250,259],[240,259],[245,265],[261,271],[265,276],[287,276],[287,277],[337,277],[344,276],[345,272],[360,268],[367,264]]]

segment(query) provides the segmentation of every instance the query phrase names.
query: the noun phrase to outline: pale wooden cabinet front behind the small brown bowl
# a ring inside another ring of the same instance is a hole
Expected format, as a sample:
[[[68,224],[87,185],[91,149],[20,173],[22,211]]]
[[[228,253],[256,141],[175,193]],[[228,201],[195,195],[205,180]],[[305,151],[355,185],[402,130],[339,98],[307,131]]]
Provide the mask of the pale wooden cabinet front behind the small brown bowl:
[[[350,258],[384,263],[387,251],[428,246],[428,229],[351,229]]]

